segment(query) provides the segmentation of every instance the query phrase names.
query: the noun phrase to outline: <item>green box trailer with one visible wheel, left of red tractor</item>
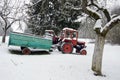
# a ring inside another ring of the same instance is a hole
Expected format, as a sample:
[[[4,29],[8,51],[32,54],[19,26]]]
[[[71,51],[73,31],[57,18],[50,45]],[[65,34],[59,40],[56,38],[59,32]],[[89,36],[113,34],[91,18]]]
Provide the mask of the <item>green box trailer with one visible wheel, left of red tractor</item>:
[[[24,33],[10,33],[8,45],[20,46],[23,54],[30,54],[29,48],[50,50],[52,39]]]

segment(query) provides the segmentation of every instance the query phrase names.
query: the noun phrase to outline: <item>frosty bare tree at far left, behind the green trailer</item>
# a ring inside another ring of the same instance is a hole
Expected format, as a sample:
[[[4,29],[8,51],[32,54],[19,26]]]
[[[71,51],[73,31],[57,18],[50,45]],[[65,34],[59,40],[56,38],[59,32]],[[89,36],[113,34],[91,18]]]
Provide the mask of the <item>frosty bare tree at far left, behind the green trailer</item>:
[[[4,24],[2,26],[2,30],[4,32],[2,37],[3,43],[5,42],[8,29],[12,26],[14,22],[21,20],[20,11],[22,8],[20,7],[20,5],[20,0],[15,0],[13,2],[11,0],[0,1],[0,17],[2,18]]]

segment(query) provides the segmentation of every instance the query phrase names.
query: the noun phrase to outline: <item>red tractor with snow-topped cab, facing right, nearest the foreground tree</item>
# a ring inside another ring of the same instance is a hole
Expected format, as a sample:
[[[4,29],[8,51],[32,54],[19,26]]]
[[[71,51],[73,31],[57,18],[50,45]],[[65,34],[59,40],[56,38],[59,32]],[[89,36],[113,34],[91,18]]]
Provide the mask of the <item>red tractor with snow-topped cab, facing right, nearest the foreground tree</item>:
[[[73,48],[76,49],[76,53],[87,54],[85,42],[78,41],[78,31],[72,28],[64,28],[60,33],[58,50],[62,53],[72,53]]]

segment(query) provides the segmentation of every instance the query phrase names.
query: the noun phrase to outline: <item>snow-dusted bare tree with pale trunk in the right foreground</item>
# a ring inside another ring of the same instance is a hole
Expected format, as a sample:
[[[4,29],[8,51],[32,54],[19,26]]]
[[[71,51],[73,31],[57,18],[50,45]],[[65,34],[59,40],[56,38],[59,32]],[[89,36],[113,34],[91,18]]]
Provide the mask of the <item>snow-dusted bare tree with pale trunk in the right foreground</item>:
[[[92,60],[92,70],[96,75],[102,75],[102,56],[106,34],[115,25],[119,24],[120,16],[111,18],[110,13],[104,6],[100,6],[96,0],[82,1],[83,11],[95,20],[94,31],[96,32],[95,48]],[[93,10],[94,8],[94,10]]]

